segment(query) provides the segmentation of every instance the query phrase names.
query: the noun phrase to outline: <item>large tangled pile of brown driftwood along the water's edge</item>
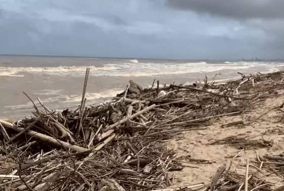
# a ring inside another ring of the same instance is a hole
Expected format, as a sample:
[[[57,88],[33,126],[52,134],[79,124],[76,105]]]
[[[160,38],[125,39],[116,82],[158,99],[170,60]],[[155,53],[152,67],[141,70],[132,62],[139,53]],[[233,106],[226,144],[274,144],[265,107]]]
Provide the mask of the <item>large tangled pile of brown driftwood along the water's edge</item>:
[[[183,131],[204,129],[215,118],[252,110],[284,89],[282,72],[242,75],[241,80],[219,84],[206,78],[204,83],[160,87],[157,81],[155,87],[153,82],[151,88],[138,90],[133,90],[135,84],[130,81],[126,91],[112,102],[85,107],[88,73],[82,104],[76,111],[54,112],[37,99],[34,117],[14,123],[0,120],[0,188],[170,187],[171,172],[183,165],[166,149],[165,141]],[[198,186],[203,184],[179,190]]]

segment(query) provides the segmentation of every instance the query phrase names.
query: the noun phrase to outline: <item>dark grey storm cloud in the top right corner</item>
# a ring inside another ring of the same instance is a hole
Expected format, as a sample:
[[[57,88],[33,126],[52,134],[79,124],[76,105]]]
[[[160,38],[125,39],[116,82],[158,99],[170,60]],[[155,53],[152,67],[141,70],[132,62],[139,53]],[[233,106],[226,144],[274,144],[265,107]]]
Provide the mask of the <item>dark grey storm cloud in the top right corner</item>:
[[[283,0],[167,0],[168,6],[236,19],[284,18]]]

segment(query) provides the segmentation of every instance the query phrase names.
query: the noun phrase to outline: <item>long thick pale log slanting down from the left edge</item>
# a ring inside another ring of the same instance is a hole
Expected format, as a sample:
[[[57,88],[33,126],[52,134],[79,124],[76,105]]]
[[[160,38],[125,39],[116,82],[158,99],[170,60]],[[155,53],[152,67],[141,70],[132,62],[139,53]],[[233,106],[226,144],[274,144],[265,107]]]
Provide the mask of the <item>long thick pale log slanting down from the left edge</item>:
[[[0,119],[0,123],[2,123],[2,125],[6,128],[10,128],[13,129],[15,131],[21,132],[22,130],[24,130],[24,128],[22,127],[16,127],[14,126],[12,123],[3,121]],[[29,136],[33,136],[34,138],[38,138],[41,139],[45,142],[50,142],[51,144],[58,146],[58,147],[66,147],[67,149],[71,149],[73,151],[77,151],[77,152],[83,152],[83,151],[88,151],[88,149],[83,148],[83,147],[79,147],[79,146],[75,146],[75,145],[71,145],[68,142],[62,141],[62,140],[58,140],[56,138],[53,138],[51,136],[42,134],[42,133],[38,133],[32,130],[28,130],[26,132],[26,134],[28,134]]]

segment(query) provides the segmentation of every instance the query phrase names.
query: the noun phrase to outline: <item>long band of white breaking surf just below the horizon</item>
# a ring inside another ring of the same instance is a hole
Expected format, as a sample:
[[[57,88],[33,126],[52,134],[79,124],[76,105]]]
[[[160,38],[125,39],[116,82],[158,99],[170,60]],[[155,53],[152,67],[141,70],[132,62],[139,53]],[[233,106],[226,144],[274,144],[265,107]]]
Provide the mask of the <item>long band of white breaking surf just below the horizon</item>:
[[[234,62],[207,64],[198,63],[131,63],[105,64],[102,67],[95,66],[59,66],[59,67],[0,67],[0,76],[23,76],[25,73],[50,74],[50,75],[74,75],[84,76],[86,68],[90,67],[91,76],[159,76],[177,75],[187,73],[206,73],[222,70],[246,70],[254,67],[264,67],[267,70],[275,70],[275,67],[284,66],[283,63],[258,63],[258,62]],[[137,61],[137,62],[136,62]]]

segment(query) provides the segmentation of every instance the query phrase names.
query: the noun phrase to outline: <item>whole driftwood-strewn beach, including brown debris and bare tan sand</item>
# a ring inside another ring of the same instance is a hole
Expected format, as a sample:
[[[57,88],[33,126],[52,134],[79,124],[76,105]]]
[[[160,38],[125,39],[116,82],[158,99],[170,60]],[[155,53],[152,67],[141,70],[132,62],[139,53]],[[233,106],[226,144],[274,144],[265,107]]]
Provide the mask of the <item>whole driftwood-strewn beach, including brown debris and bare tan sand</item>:
[[[272,190],[284,176],[283,79],[279,71],[227,83],[156,81],[138,94],[130,83],[105,105],[42,105],[33,118],[2,119],[0,186]]]

